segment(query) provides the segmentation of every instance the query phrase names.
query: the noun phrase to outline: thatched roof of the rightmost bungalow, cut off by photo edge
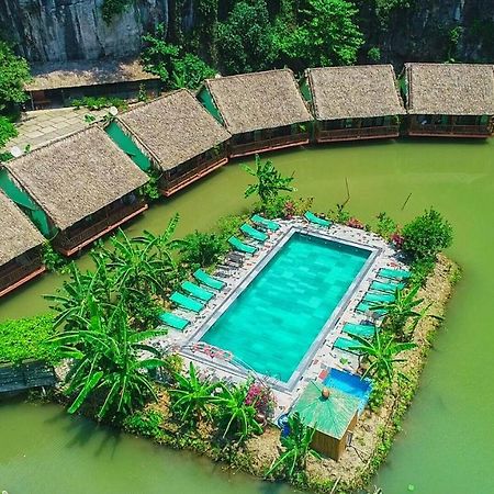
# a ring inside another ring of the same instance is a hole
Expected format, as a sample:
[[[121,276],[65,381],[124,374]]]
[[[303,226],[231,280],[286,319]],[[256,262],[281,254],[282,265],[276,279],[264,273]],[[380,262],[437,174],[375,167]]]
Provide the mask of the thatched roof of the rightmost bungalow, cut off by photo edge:
[[[406,64],[412,114],[493,115],[494,69],[474,64]]]

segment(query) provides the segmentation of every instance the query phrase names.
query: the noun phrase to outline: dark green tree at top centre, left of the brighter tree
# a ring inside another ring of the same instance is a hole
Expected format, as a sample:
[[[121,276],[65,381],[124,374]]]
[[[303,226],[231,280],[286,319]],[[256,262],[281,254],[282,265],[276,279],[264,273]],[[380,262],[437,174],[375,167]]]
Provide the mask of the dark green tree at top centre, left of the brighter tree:
[[[266,0],[240,0],[217,24],[218,58],[226,74],[271,68],[276,59]]]

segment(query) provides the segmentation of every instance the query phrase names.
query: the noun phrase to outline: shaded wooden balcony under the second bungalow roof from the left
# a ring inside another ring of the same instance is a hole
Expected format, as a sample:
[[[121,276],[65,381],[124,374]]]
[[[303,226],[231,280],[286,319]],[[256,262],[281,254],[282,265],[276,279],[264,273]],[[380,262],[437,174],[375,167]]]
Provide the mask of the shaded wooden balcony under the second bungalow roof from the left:
[[[136,200],[132,204],[125,204],[123,200],[115,201],[90,217],[59,232],[54,239],[54,247],[65,256],[72,256],[146,210],[147,204],[143,200]]]

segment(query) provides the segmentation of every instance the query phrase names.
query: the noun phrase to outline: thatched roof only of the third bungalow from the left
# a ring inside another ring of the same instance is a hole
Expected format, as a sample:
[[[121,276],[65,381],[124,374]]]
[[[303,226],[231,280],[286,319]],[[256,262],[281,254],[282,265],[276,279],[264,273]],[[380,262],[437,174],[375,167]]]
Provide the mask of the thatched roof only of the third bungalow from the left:
[[[186,89],[134,106],[117,120],[162,170],[194,158],[231,137]]]

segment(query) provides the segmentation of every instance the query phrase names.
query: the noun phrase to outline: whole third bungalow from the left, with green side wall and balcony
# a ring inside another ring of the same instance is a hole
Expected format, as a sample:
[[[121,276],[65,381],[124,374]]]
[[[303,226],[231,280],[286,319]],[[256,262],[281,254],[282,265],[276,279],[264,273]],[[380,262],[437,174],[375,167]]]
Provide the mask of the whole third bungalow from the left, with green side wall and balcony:
[[[137,166],[161,173],[164,195],[228,160],[229,133],[186,89],[134,106],[105,130]]]

